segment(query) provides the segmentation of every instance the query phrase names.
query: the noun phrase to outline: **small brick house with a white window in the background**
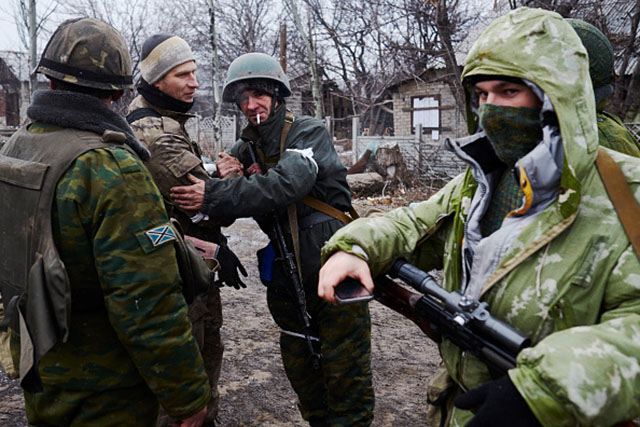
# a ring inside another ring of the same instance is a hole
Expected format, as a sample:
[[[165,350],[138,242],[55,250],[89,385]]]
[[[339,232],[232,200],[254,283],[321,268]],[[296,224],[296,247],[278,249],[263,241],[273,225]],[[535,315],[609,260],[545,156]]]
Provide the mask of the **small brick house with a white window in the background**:
[[[433,141],[466,133],[464,114],[456,106],[448,78],[444,69],[429,69],[387,89],[393,100],[395,136],[415,135],[419,125]]]

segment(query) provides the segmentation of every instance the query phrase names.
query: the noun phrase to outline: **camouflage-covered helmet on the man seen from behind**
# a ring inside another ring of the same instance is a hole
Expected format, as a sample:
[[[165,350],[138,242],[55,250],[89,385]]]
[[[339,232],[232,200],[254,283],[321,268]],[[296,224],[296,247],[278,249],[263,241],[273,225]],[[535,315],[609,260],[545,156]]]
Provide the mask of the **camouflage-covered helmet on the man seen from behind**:
[[[103,90],[133,87],[131,56],[118,31],[92,18],[60,24],[44,48],[36,72]]]

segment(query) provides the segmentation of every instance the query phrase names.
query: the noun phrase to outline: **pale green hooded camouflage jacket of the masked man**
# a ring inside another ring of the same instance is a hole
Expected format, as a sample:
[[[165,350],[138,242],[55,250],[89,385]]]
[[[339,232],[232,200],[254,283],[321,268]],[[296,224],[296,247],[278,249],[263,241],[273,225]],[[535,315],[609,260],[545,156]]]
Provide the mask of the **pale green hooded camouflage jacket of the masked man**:
[[[533,82],[543,110],[558,117],[559,127],[549,127],[517,163],[523,206],[479,238],[491,187],[476,160],[484,152],[478,133],[449,144],[470,164],[465,174],[425,202],[339,230],[323,258],[344,250],[366,259],[375,275],[406,257],[426,270],[443,269],[446,289],[487,301],[493,315],[533,340],[509,376],[543,425],[634,419],[640,415],[640,263],[594,166],[598,134],[587,54],[562,17],[521,8],[494,21],[474,44],[463,78],[472,75]],[[473,115],[469,123],[476,132]],[[640,161],[608,153],[640,198]],[[444,340],[440,351],[459,388],[491,379],[486,366],[451,342]],[[462,426],[471,416],[453,408],[449,424]]]

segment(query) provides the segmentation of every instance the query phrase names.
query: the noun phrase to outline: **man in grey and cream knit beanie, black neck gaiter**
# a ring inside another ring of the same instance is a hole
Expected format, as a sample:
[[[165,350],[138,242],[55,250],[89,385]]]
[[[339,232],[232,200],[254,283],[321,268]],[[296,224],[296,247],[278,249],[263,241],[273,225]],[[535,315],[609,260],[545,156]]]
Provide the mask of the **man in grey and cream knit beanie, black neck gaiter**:
[[[202,164],[200,147],[185,129],[186,121],[193,117],[188,111],[198,89],[193,52],[180,37],[156,34],[142,46],[140,71],[139,95],[129,105],[127,120],[134,134],[151,152],[151,158],[145,164],[164,197],[169,215],[179,221],[186,235],[216,244],[214,252],[221,266],[218,270],[220,284],[237,289],[244,287],[238,270],[245,276],[246,271],[227,247],[220,225],[202,216],[192,219],[169,199],[171,187],[189,183],[187,174],[200,179],[209,177]],[[212,388],[207,423],[213,424],[218,413],[217,384],[223,352],[220,338],[222,306],[218,287],[210,288],[205,295],[198,296],[189,304],[189,318]],[[169,421],[164,416],[161,418],[161,425]]]

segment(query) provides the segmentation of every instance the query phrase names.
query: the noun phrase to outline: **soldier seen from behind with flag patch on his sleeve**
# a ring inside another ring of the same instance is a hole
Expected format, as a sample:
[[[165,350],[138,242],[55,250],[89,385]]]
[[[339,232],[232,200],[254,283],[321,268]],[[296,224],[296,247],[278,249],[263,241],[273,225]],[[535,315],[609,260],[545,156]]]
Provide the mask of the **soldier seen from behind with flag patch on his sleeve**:
[[[132,86],[124,39],[66,21],[37,71],[51,90],[0,155],[0,290],[29,423],[154,426],[160,403],[199,426],[211,389],[175,231],[148,151],[109,108]]]

